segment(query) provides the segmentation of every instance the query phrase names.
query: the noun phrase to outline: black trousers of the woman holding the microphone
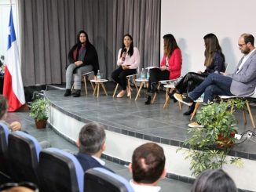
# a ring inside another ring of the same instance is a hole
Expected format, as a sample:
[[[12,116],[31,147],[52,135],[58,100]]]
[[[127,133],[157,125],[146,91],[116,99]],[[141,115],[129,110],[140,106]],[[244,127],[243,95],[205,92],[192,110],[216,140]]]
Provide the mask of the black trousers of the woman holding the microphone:
[[[136,74],[136,73],[137,73],[136,69],[123,70],[122,67],[119,67],[115,71],[112,72],[112,79],[116,83],[119,83],[123,90],[126,90],[126,86],[127,86],[126,76],[131,75],[131,74]]]

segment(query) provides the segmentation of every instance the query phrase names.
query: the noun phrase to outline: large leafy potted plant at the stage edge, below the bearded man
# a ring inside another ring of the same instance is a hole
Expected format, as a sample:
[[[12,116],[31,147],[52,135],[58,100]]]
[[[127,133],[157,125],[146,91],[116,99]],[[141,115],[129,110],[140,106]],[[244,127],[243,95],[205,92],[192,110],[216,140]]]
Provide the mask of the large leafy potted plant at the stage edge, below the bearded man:
[[[236,118],[235,108],[244,108],[243,100],[208,103],[196,115],[196,120],[203,128],[188,129],[188,139],[184,146],[188,147],[186,159],[190,159],[192,175],[198,176],[207,168],[222,168],[231,163],[242,166],[240,158],[226,157],[235,143]]]

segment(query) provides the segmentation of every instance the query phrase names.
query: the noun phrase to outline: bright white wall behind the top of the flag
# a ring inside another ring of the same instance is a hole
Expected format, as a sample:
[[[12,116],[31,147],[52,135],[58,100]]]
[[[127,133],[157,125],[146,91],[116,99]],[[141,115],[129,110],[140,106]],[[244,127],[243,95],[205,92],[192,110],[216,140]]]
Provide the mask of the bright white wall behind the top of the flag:
[[[16,39],[19,43],[19,28],[18,28],[18,13],[17,13],[17,2],[18,0],[12,0],[13,5],[13,23],[16,32]],[[0,56],[5,56],[7,51],[7,40],[9,34],[9,11],[10,11],[10,0],[0,0]]]

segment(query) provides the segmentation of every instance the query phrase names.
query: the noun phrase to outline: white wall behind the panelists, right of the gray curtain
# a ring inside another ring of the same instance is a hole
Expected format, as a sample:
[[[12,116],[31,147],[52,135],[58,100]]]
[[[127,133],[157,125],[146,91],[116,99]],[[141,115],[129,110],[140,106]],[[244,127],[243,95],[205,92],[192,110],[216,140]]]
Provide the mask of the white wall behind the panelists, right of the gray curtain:
[[[161,37],[174,34],[182,51],[182,74],[204,70],[203,36],[208,33],[217,35],[226,62],[236,65],[242,56],[240,34],[256,37],[255,7],[255,0],[162,0]]]

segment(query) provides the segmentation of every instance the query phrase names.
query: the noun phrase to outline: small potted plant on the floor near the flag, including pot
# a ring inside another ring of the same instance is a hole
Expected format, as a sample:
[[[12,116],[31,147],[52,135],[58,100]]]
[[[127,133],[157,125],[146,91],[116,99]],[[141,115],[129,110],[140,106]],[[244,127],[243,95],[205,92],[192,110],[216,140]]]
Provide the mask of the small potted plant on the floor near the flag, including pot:
[[[49,101],[38,98],[31,104],[30,116],[35,118],[37,129],[45,129],[49,117]]]

